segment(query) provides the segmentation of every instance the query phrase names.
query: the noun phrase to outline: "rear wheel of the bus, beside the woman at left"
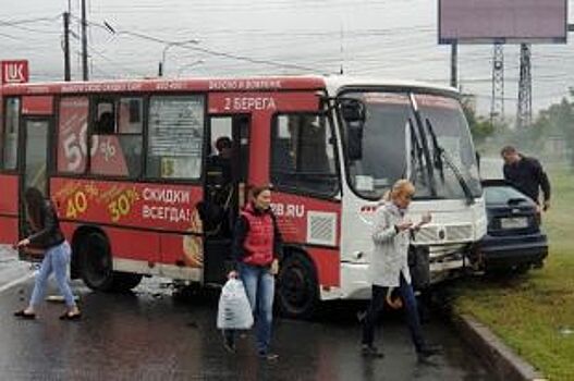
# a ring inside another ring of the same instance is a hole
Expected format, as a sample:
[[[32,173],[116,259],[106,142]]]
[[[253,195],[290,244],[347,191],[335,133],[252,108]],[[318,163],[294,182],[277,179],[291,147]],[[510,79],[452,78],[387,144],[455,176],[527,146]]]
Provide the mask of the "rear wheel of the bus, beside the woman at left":
[[[80,244],[82,279],[91,290],[112,291],[113,271],[110,243],[100,232],[90,232]]]

